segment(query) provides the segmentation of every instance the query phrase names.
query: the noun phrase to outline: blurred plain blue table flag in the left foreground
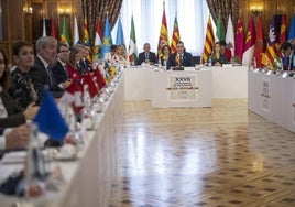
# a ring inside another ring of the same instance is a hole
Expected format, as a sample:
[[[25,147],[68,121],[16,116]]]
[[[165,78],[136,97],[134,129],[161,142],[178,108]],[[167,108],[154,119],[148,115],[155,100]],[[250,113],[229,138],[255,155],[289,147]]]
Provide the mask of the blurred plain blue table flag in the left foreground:
[[[40,131],[56,141],[62,141],[68,132],[68,127],[48,89],[45,90],[45,97],[33,122],[37,123]]]

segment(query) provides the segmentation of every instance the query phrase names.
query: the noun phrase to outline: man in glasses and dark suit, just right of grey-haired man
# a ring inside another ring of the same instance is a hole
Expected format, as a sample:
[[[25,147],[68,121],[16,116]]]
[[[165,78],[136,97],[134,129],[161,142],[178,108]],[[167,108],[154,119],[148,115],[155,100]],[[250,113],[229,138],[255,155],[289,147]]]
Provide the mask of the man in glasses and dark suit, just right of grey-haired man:
[[[58,61],[52,68],[53,77],[61,88],[66,89],[72,84],[67,69],[69,57],[69,47],[67,44],[61,42],[57,43],[57,56]]]

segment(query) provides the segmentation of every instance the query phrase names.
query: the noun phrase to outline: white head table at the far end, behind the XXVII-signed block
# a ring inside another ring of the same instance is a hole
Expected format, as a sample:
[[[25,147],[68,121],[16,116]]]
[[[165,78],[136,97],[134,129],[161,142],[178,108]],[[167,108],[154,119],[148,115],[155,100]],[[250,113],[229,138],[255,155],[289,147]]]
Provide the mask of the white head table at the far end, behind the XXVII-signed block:
[[[212,99],[248,98],[248,67],[223,66],[204,67],[200,70],[211,70]],[[171,70],[155,72],[154,67],[129,67],[124,69],[124,94],[125,100],[151,100],[152,81],[159,73],[175,73]],[[187,73],[187,72],[178,72]],[[203,77],[203,76],[201,76]],[[205,78],[205,76],[203,77]],[[165,81],[166,83],[166,81]],[[156,83],[159,85],[160,83]],[[166,88],[166,86],[164,86]],[[209,91],[209,90],[208,90]],[[209,91],[210,92],[210,91]]]

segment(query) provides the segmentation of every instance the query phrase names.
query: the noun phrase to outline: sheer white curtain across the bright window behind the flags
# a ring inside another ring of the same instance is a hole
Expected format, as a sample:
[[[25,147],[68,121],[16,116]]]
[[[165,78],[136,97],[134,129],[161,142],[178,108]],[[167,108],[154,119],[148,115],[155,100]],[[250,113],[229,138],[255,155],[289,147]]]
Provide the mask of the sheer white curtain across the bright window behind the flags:
[[[177,15],[181,40],[187,52],[200,56],[204,50],[209,9],[206,0],[165,0],[167,32],[171,42],[175,15]],[[123,0],[121,22],[127,45],[130,40],[131,15],[134,19],[138,52],[150,43],[156,52],[163,15],[163,0]],[[117,24],[111,31],[116,40]]]

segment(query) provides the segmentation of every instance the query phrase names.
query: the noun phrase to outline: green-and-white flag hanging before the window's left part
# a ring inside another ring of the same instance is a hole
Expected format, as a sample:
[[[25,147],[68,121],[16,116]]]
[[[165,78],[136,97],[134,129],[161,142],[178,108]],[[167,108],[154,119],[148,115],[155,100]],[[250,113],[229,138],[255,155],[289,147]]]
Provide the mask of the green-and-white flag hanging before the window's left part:
[[[138,63],[138,47],[136,47],[136,35],[135,35],[135,26],[133,15],[131,17],[131,30],[130,30],[130,42],[129,42],[129,62],[131,65],[135,65]]]

